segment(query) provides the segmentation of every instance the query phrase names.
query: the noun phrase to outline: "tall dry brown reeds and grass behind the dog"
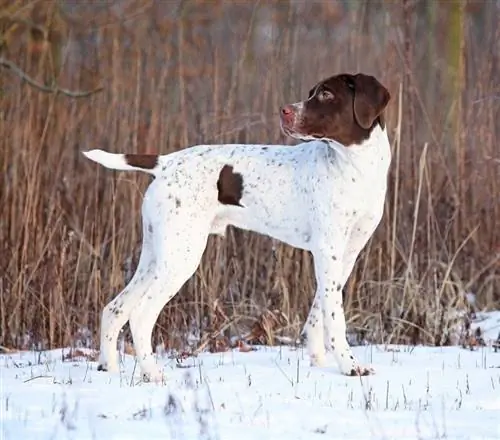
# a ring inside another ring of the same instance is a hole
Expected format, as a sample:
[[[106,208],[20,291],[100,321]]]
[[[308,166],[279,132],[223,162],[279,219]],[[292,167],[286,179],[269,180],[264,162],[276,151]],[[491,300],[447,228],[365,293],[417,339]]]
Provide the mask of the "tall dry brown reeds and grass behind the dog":
[[[292,145],[280,105],[358,71],[392,94],[393,162],[384,218],[344,292],[350,333],[459,342],[466,293],[500,306],[499,23],[493,0],[0,0],[0,345],[98,347],[101,309],[136,267],[150,178],[82,150]],[[44,93],[9,63],[49,89],[103,90]],[[229,228],[155,343],[295,339],[314,287],[309,253]]]

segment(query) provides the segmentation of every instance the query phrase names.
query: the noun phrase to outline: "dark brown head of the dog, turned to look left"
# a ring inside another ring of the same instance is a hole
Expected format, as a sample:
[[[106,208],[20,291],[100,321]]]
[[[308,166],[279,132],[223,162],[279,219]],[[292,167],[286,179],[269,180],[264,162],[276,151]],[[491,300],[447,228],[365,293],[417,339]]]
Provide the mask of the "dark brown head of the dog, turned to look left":
[[[357,145],[368,139],[376,124],[384,128],[383,111],[390,98],[373,76],[335,75],[314,86],[306,101],[282,107],[281,128],[301,140]]]

